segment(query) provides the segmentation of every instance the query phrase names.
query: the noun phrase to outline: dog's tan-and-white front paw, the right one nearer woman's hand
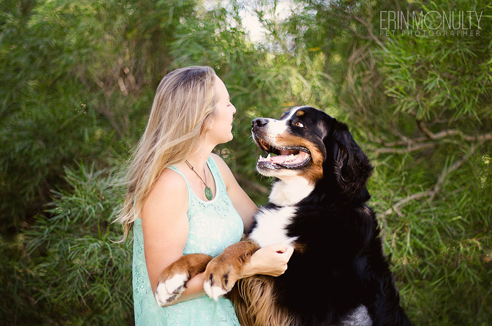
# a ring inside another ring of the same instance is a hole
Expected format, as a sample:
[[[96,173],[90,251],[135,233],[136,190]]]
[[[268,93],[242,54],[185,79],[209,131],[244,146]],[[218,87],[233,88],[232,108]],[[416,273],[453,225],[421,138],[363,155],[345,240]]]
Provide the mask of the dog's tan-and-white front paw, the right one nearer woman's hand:
[[[231,266],[220,258],[215,258],[209,262],[205,270],[203,289],[211,299],[217,301],[220,296],[231,291],[238,279],[237,273]]]

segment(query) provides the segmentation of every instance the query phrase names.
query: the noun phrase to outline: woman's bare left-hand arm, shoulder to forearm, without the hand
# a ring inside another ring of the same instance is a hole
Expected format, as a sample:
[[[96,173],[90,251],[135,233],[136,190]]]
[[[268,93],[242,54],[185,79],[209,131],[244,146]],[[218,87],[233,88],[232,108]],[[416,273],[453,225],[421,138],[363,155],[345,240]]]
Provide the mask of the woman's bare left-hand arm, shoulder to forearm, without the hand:
[[[163,269],[182,256],[188,238],[188,189],[175,171],[165,169],[157,179],[141,212],[144,250],[152,292]],[[204,295],[203,273],[190,279],[173,303]]]

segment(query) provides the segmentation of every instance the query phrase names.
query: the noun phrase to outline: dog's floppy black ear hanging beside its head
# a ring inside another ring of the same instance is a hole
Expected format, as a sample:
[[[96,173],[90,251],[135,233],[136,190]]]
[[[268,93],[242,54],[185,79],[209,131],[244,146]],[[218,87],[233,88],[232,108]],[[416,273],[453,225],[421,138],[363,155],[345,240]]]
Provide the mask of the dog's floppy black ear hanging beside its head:
[[[333,174],[342,195],[358,200],[367,200],[367,179],[373,172],[373,166],[357,145],[347,125],[334,121],[332,136],[327,137],[326,149],[332,149]],[[330,153],[327,153],[330,155]],[[328,158],[330,159],[330,158]]]

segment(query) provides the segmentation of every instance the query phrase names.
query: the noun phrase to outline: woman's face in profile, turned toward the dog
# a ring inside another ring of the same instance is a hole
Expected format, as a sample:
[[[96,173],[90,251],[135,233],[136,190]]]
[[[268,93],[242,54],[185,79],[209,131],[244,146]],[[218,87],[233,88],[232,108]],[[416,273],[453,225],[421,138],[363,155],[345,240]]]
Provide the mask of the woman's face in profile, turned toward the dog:
[[[215,104],[214,117],[207,128],[206,137],[217,144],[222,144],[233,138],[232,120],[236,108],[230,102],[226,85],[217,76],[215,76],[214,91],[217,103]]]

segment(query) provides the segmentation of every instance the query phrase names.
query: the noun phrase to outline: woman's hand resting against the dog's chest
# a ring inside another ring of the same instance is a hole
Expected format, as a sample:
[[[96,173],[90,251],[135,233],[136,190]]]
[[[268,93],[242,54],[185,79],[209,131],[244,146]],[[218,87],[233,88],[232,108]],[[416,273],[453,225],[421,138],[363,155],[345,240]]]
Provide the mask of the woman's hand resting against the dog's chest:
[[[282,275],[293,252],[294,248],[283,242],[258,249],[244,266],[242,278],[255,274]]]

